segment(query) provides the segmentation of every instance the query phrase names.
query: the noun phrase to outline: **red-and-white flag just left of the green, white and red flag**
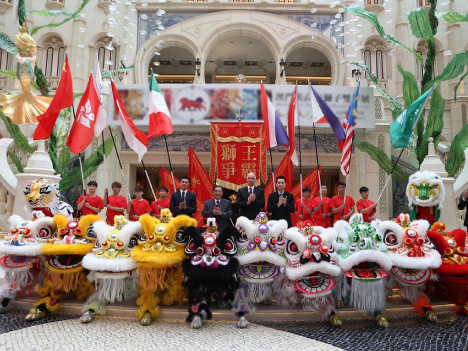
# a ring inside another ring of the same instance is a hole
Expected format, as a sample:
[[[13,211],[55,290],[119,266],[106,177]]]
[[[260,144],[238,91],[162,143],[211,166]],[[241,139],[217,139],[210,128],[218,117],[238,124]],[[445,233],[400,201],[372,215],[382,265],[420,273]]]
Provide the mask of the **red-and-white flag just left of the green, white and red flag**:
[[[138,161],[141,162],[146,151],[148,151],[148,137],[145,133],[135,127],[132,119],[125,110],[125,107],[120,99],[117,87],[111,78],[112,95],[114,96],[114,104],[117,115],[119,117],[120,126],[125,136],[128,146],[138,154]]]

